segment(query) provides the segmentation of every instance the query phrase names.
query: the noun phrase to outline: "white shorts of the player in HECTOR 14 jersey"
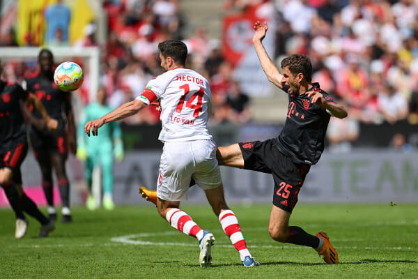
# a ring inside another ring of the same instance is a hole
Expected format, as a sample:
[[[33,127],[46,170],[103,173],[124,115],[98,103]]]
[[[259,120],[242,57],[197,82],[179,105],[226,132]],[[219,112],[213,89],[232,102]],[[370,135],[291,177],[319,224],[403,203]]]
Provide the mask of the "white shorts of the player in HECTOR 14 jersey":
[[[192,178],[203,190],[215,189],[221,185],[215,142],[192,140],[164,143],[157,197],[167,201],[187,199],[186,193]]]

